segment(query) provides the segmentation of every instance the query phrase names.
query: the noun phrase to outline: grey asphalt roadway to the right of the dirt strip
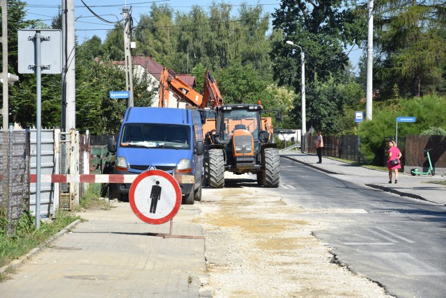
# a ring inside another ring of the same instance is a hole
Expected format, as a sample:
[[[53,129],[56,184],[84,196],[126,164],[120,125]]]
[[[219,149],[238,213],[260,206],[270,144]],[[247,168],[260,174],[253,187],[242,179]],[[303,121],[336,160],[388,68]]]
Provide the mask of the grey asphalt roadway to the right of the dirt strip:
[[[307,217],[330,223],[315,231],[335,262],[397,297],[445,297],[446,207],[340,180],[282,158],[277,191]]]

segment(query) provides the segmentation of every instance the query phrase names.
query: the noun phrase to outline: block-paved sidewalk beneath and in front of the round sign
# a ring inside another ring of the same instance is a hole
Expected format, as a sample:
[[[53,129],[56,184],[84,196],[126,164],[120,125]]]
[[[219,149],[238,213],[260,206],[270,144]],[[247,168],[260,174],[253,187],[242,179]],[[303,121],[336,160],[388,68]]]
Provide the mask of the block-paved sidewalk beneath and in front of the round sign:
[[[192,224],[194,205],[183,205],[169,223],[149,225],[129,203],[112,210],[82,212],[87,221],[17,261],[0,283],[1,297],[211,297],[201,226]],[[37,253],[38,252],[38,253]]]

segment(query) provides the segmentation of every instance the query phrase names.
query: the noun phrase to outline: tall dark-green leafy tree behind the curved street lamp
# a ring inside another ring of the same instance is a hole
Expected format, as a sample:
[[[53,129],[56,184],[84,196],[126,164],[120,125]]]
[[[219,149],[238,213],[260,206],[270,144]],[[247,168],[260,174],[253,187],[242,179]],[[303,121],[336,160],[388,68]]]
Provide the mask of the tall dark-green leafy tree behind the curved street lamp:
[[[342,1],[307,2],[282,0],[273,13],[273,29],[283,37],[273,42],[270,53],[274,78],[279,84],[300,86],[294,74],[300,72],[300,49],[285,44],[291,40],[299,45],[306,56],[305,79],[312,83],[330,77],[342,77],[348,67],[344,47],[360,43],[360,19],[353,11],[342,7]]]

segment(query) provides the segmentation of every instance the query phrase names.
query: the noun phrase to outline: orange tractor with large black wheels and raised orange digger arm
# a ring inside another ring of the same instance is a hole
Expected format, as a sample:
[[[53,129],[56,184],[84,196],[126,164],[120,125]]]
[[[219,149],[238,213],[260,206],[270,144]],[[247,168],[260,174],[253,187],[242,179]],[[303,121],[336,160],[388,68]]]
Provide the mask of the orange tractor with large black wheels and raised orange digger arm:
[[[224,172],[229,171],[237,175],[254,173],[259,185],[279,186],[279,150],[274,143],[272,119],[261,117],[266,112],[261,104],[224,104],[209,70],[205,73],[204,95],[187,86],[174,72],[170,71],[169,75],[166,70],[160,80],[160,107],[169,89],[180,100],[201,111],[206,147],[203,170],[207,185],[224,187]]]

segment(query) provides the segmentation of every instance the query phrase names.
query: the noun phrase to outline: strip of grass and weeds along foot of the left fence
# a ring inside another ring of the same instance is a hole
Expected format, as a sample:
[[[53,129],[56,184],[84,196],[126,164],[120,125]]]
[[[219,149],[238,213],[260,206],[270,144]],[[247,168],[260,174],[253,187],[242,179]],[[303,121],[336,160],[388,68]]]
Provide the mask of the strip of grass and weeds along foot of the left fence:
[[[109,210],[110,206],[104,199],[99,198],[100,188],[91,187],[79,200],[79,210]],[[31,249],[41,246],[66,228],[73,221],[81,219],[74,212],[59,210],[54,218],[40,221],[40,229],[36,230],[36,217],[24,212],[22,217],[13,224],[14,233],[8,235],[8,217],[0,210],[0,267],[12,260],[24,256]],[[8,273],[8,272],[6,272]],[[6,274],[0,274],[0,281],[6,279]]]

